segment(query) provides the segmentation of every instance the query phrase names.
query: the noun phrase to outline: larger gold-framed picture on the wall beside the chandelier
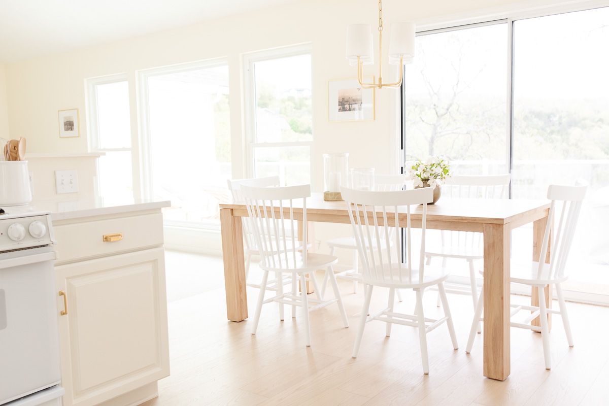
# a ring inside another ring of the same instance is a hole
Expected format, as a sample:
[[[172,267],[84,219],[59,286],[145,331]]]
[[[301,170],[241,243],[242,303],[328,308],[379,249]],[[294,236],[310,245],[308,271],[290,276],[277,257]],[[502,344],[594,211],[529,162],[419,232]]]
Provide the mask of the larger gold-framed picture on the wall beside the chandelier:
[[[329,121],[370,121],[374,119],[375,89],[362,88],[357,79],[328,82]]]

